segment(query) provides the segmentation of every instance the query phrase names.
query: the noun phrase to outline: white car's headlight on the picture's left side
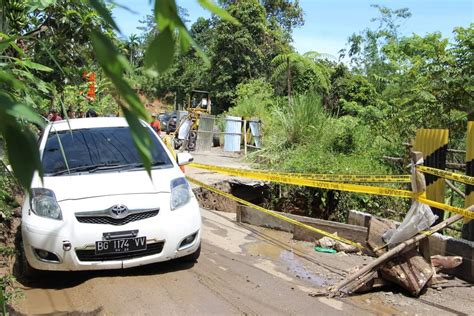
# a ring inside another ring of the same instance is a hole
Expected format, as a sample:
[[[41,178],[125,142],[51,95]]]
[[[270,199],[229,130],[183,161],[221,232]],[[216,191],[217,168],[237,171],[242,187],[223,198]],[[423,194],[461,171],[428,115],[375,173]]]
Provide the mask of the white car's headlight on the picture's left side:
[[[63,219],[56,196],[49,189],[31,189],[30,206],[33,213],[38,216],[56,220]]]

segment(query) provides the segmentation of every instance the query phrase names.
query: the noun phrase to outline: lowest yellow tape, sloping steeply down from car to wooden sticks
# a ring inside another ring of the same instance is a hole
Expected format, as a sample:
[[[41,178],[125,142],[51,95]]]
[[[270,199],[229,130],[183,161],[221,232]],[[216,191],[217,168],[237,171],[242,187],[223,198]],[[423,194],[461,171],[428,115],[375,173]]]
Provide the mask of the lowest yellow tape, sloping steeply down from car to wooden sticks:
[[[297,220],[294,220],[294,219],[292,219],[292,218],[289,218],[289,217],[286,217],[286,216],[284,216],[284,215],[278,214],[278,213],[276,213],[276,212],[274,212],[274,211],[267,210],[266,208],[263,208],[263,207],[261,207],[261,206],[258,206],[258,205],[255,205],[255,204],[253,204],[253,203],[250,203],[250,202],[247,202],[247,201],[245,201],[245,200],[242,200],[242,199],[240,199],[240,198],[238,198],[238,197],[236,197],[236,196],[234,196],[234,195],[232,195],[232,194],[229,194],[229,193],[227,193],[227,192],[224,192],[224,191],[221,191],[221,190],[219,190],[219,189],[216,189],[216,188],[214,188],[213,186],[207,185],[207,184],[205,184],[205,183],[203,183],[203,182],[201,182],[201,181],[198,181],[198,180],[196,180],[196,179],[194,179],[194,178],[191,178],[191,177],[189,177],[189,176],[187,176],[186,178],[189,180],[189,182],[192,182],[192,183],[194,183],[194,184],[196,184],[196,185],[198,185],[198,186],[200,186],[200,187],[202,187],[202,188],[205,188],[206,190],[209,190],[209,191],[212,191],[212,192],[217,193],[217,194],[219,194],[219,195],[225,196],[226,198],[229,198],[229,199],[231,199],[231,200],[234,200],[234,201],[236,201],[236,202],[239,202],[239,203],[241,203],[241,204],[243,204],[243,205],[247,205],[247,206],[249,206],[249,207],[251,207],[251,208],[253,208],[253,209],[256,209],[257,211],[263,212],[263,213],[268,214],[268,215],[270,215],[270,216],[273,216],[273,217],[276,217],[276,218],[278,218],[278,219],[281,219],[281,220],[283,220],[283,221],[285,221],[285,222],[288,222],[288,223],[291,223],[291,224],[300,226],[300,227],[302,227],[302,228],[308,229],[308,230],[313,231],[313,232],[315,232],[315,233],[318,233],[318,234],[320,234],[320,235],[330,237],[330,238],[332,238],[332,239],[334,239],[334,240],[337,240],[337,241],[340,241],[340,242],[342,242],[342,243],[344,243],[344,244],[351,245],[351,246],[354,246],[354,247],[359,248],[359,249],[364,249],[364,246],[362,246],[362,245],[359,244],[359,243],[356,243],[356,242],[350,241],[350,240],[348,240],[348,239],[342,238],[342,237],[340,237],[340,236],[338,236],[338,235],[332,234],[332,233],[327,232],[327,231],[325,231],[325,230],[321,230],[321,229],[315,228],[315,227],[313,227],[313,226],[303,224],[303,223],[301,223],[301,222],[299,222],[299,221],[297,221]]]

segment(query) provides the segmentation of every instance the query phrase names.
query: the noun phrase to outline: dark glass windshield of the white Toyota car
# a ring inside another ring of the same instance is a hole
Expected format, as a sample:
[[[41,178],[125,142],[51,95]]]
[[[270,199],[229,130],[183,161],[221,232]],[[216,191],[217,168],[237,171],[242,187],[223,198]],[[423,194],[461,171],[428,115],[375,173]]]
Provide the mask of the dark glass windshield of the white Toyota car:
[[[153,141],[153,166],[172,167],[163,146],[151,131],[149,133]],[[43,151],[42,163],[45,175],[143,168],[128,127],[51,131]]]

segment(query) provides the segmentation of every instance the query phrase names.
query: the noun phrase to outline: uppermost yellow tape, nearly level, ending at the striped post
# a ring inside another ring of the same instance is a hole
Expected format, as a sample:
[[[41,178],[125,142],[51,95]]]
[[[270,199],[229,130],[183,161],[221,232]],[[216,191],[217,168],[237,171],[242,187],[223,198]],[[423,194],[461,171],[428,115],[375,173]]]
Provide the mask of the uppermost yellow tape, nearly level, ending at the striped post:
[[[224,172],[226,169],[229,172],[235,172],[235,168],[224,168],[210,166],[200,163],[192,163],[190,167],[196,167],[201,169],[215,169],[219,170],[218,172]],[[211,171],[215,171],[211,170]],[[246,172],[250,172],[255,175],[261,175],[262,173],[271,173],[272,176],[282,176],[294,179],[312,179],[318,181],[327,181],[327,182],[378,182],[378,183],[410,183],[410,175],[352,175],[352,174],[311,174],[311,173],[292,173],[292,172],[275,172],[275,171],[259,171],[259,170],[249,170],[246,169]]]

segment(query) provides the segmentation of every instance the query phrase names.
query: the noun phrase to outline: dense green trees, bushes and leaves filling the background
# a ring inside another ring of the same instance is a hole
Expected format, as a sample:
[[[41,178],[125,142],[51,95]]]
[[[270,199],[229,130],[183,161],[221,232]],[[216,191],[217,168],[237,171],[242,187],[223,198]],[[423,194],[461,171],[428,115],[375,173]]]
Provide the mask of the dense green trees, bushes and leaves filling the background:
[[[265,147],[252,158],[265,168],[400,173],[401,165],[382,156],[403,156],[402,143],[422,127],[449,128],[452,146],[464,146],[466,121],[474,119],[472,24],[455,28],[451,41],[437,32],[408,36],[399,29],[408,9],[376,5],[375,27],[350,36],[340,56],[300,54],[292,47],[294,28],[304,24],[297,0],[219,1],[230,16],[211,1],[199,2],[219,17],[199,18],[188,32],[185,9],[156,1],[140,34],[124,38],[108,2],[1,1],[0,132],[7,143],[30,145],[8,151],[29,157],[18,159],[25,168],[13,166],[23,185],[38,165],[34,137],[23,123],[42,125],[31,109],[66,115],[70,106],[94,108],[122,113],[134,125],[148,117],[136,93],[184,105],[192,89],[204,89],[212,93],[214,114],[260,117]],[[90,72],[94,99],[86,94]],[[134,140],[146,160],[149,142],[139,128]],[[272,206],[301,200],[299,209],[324,217],[334,209],[386,210],[400,203],[284,191]]]

